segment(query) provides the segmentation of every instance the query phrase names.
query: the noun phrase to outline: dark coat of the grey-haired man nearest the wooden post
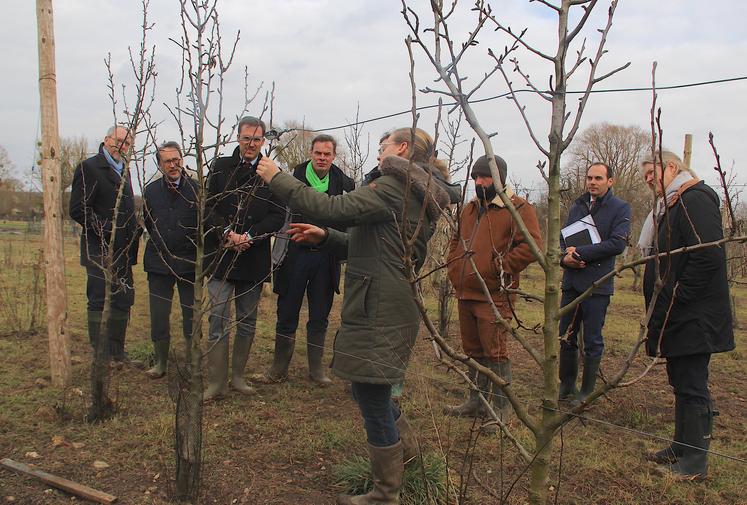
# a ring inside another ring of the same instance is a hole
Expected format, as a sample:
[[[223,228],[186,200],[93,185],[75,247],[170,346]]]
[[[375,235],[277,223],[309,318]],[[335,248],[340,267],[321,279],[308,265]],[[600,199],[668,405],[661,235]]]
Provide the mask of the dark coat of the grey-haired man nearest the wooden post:
[[[114,221],[114,205],[122,178],[109,166],[99,146],[99,154],[75,168],[70,192],[70,217],[83,227],[80,239],[80,264],[97,266],[109,247]],[[130,177],[125,179],[124,193],[117,213],[114,239],[115,265],[134,265],[142,230],[135,218],[135,197]]]

